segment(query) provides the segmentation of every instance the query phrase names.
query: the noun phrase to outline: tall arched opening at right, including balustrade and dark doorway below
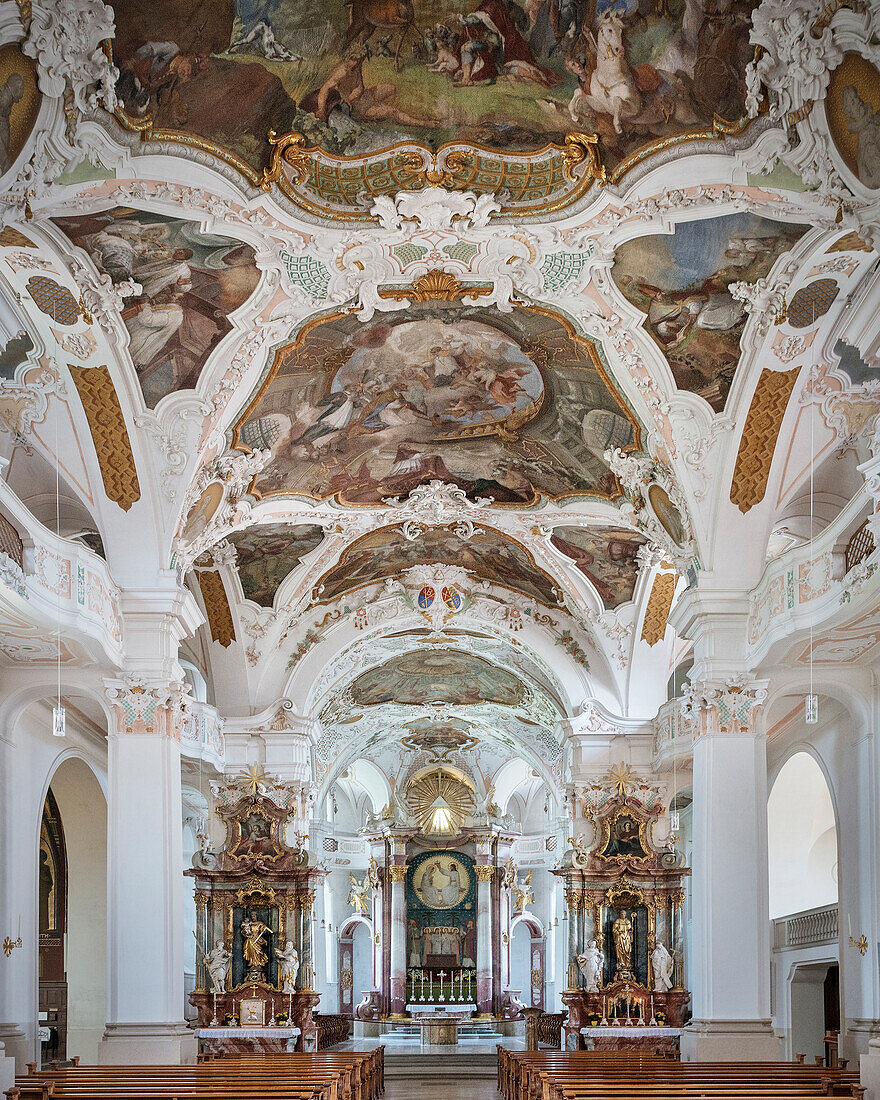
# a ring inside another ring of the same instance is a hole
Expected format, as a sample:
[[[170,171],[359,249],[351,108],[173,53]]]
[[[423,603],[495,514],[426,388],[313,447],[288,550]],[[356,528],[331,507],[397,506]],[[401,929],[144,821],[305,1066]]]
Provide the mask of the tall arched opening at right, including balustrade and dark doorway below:
[[[809,752],[785,761],[767,805],[770,916],[778,971],[776,1025],[787,1057],[824,1054],[840,1026],[837,824],[825,776]]]

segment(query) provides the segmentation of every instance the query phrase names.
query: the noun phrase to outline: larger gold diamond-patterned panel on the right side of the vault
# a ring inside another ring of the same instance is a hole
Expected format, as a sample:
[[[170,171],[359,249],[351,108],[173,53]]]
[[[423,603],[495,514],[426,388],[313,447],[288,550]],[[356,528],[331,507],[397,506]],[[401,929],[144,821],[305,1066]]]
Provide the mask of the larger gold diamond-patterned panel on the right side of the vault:
[[[760,504],[773,462],[782,417],[801,369],[761,371],[736,457],[730,502],[741,513]]]

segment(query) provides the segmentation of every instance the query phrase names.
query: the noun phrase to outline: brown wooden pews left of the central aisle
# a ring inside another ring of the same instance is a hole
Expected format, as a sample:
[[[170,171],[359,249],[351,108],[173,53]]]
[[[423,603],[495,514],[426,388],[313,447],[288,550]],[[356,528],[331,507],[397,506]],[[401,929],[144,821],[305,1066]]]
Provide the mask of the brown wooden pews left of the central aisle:
[[[385,1090],[384,1047],[222,1055],[196,1066],[28,1069],[7,1100],[378,1100]]]

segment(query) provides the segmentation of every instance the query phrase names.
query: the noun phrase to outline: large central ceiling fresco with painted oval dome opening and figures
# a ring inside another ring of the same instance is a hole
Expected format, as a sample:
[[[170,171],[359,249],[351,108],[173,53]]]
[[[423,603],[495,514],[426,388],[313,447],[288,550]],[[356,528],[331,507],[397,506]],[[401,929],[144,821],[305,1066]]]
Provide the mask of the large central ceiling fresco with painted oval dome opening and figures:
[[[604,452],[640,432],[593,343],[518,308],[348,315],[282,349],[235,431],[270,448],[261,496],[381,504],[428,481],[498,504],[617,493]]]

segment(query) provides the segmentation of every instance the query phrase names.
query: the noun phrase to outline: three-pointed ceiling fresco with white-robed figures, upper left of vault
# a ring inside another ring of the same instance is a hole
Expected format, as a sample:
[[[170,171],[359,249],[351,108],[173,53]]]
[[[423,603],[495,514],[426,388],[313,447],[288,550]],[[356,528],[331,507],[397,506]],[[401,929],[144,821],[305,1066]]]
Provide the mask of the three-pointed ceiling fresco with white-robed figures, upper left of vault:
[[[148,408],[166,394],[195,388],[211,351],[232,328],[229,315],[256,288],[254,251],[197,222],[116,207],[56,218],[114,284],[133,279],[122,320]]]

